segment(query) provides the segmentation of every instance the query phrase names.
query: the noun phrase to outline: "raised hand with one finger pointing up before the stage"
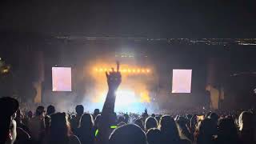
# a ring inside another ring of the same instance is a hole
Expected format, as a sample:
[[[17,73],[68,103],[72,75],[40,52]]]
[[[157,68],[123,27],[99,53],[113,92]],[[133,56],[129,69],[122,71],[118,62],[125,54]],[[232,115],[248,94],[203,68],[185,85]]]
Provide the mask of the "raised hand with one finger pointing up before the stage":
[[[106,72],[107,85],[109,86],[109,90],[118,90],[118,86],[122,82],[122,75],[119,71],[119,62],[117,62],[117,70],[115,71],[112,67],[112,71],[109,73]]]

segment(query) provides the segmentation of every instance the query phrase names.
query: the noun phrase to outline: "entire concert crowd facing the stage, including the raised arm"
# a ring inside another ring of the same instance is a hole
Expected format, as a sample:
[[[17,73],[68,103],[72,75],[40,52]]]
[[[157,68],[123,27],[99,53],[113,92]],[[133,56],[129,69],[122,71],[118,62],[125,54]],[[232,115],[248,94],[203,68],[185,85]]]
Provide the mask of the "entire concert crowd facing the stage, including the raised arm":
[[[102,111],[56,112],[50,105],[22,111],[14,98],[0,98],[0,143],[27,144],[254,144],[254,110],[240,114],[116,114],[115,91],[122,82],[106,73],[109,87]]]

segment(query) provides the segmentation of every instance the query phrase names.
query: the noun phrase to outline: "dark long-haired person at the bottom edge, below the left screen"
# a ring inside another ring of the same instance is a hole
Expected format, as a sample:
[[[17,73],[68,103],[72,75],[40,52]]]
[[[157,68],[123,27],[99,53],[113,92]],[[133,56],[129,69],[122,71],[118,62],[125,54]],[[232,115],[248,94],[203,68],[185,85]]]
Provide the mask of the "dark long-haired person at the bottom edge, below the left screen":
[[[66,113],[56,113],[50,116],[50,132],[45,144],[81,144],[78,137],[72,134]]]

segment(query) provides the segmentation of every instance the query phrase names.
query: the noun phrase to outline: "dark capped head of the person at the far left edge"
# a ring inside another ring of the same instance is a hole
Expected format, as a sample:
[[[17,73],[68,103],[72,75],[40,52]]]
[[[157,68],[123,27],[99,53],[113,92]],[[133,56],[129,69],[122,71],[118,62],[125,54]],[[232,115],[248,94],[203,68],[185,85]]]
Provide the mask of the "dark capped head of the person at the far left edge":
[[[12,116],[18,110],[18,106],[18,101],[14,98],[0,98],[0,113],[2,115],[5,115],[7,117]]]

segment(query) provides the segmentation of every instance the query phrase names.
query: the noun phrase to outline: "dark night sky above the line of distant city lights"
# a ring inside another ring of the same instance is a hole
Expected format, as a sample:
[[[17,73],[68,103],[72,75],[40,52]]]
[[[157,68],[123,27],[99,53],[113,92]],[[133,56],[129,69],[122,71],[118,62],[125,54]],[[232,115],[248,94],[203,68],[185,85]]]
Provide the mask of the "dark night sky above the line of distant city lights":
[[[1,1],[0,31],[150,38],[254,38],[254,0]]]

